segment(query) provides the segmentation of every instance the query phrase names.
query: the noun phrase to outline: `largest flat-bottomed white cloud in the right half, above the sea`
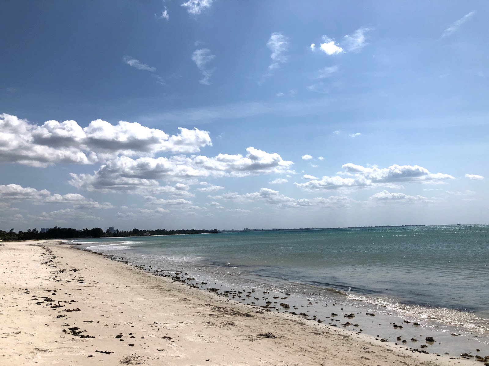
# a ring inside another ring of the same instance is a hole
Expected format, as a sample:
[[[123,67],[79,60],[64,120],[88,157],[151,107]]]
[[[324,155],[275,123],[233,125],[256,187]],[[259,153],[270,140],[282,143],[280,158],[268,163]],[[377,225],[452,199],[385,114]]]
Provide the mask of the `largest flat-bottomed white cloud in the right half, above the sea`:
[[[430,173],[419,165],[391,165],[388,168],[364,167],[347,163],[342,166],[343,172],[339,174],[349,176],[324,176],[321,180],[313,179],[307,183],[295,183],[305,190],[332,190],[339,188],[393,186],[400,183],[431,183],[454,179],[449,174]],[[351,178],[353,177],[353,178]]]

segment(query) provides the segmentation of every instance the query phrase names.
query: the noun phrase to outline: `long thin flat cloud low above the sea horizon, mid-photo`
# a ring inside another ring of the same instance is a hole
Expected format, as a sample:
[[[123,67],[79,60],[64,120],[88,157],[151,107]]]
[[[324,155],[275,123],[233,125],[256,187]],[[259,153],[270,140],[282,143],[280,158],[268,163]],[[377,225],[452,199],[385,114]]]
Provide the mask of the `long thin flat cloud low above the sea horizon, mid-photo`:
[[[261,188],[259,192],[246,193],[239,195],[238,193],[228,193],[221,196],[215,196],[213,198],[219,198],[225,201],[234,202],[252,202],[252,201],[264,201],[267,204],[275,205],[279,208],[297,208],[297,207],[309,207],[309,206],[323,206],[323,207],[346,207],[350,206],[354,200],[345,196],[331,196],[328,198],[316,197],[312,199],[295,199],[287,197],[278,191],[270,188]]]

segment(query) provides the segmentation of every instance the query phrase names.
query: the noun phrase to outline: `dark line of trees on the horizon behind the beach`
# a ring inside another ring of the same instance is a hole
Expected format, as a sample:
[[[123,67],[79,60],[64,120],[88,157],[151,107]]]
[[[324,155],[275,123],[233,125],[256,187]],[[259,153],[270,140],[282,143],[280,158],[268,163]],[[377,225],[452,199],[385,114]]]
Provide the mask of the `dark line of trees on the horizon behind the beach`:
[[[42,233],[37,228],[27,229],[27,231],[9,231],[0,230],[0,240],[12,241],[12,240],[43,240],[43,239],[77,239],[77,238],[105,238],[114,236],[142,236],[142,235],[178,235],[178,234],[207,234],[217,233],[217,229],[204,230],[204,229],[179,229],[179,230],[114,230],[113,233],[109,229],[106,231],[100,227],[94,227],[91,229],[77,230],[71,227],[58,227],[55,226]]]

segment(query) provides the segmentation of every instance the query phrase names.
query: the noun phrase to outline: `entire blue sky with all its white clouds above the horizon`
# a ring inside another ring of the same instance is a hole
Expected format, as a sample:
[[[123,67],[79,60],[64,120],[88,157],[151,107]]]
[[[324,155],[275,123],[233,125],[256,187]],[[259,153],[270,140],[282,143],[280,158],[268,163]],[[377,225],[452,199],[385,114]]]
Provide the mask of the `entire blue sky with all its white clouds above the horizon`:
[[[489,223],[487,1],[0,13],[0,229]]]

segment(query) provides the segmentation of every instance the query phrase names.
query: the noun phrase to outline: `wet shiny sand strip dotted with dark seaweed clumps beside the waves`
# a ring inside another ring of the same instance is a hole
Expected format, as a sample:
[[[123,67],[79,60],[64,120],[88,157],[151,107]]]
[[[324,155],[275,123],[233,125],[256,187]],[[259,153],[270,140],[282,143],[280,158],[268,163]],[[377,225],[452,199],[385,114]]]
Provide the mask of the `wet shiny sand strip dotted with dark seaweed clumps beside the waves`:
[[[336,292],[339,292],[337,290],[331,289],[333,293],[329,299],[317,299],[312,294],[306,296],[306,294],[297,293],[287,287],[270,290],[269,287],[263,287],[260,284],[252,285],[243,281],[240,281],[240,284],[233,284],[228,283],[228,280],[232,281],[233,277],[226,279],[221,276],[218,279],[215,277],[215,272],[209,277],[209,273],[196,272],[195,268],[184,268],[178,264],[170,264],[171,266],[168,267],[168,264],[148,262],[144,258],[143,261],[138,261],[134,258],[126,258],[122,254],[124,252],[121,251],[116,251],[117,254],[112,254],[113,251],[108,253],[102,250],[99,252],[96,246],[79,247],[79,249],[103,255],[117,262],[130,264],[155,276],[169,278],[176,283],[181,282],[201,290],[207,290],[215,296],[239,304],[246,304],[274,313],[289,313],[294,315],[296,319],[307,322],[318,321],[327,326],[342,326],[349,332],[363,334],[369,340],[380,341],[382,339],[384,342],[388,341],[391,345],[401,346],[403,349],[439,354],[447,358],[457,357],[464,353],[470,354],[471,352],[476,352],[476,355],[489,354],[489,347],[485,340],[487,333],[460,327],[461,324],[448,324],[426,314],[424,317],[420,317],[420,314],[416,314],[416,312],[409,314],[403,310],[389,309],[385,305],[336,295]],[[189,273],[184,273],[182,276],[183,272]],[[340,293],[345,295],[343,292]],[[282,306],[282,303],[287,303],[285,305],[289,307]],[[434,315],[436,314],[435,309],[431,308],[428,311]],[[444,313],[446,310],[442,309]],[[420,309],[417,310],[417,312],[419,311]],[[339,314],[333,316],[333,313]],[[370,316],[370,314],[375,315]],[[457,314],[457,317],[460,318],[460,315]],[[481,337],[481,334],[484,336]],[[425,342],[426,337],[434,337],[436,342]]]

